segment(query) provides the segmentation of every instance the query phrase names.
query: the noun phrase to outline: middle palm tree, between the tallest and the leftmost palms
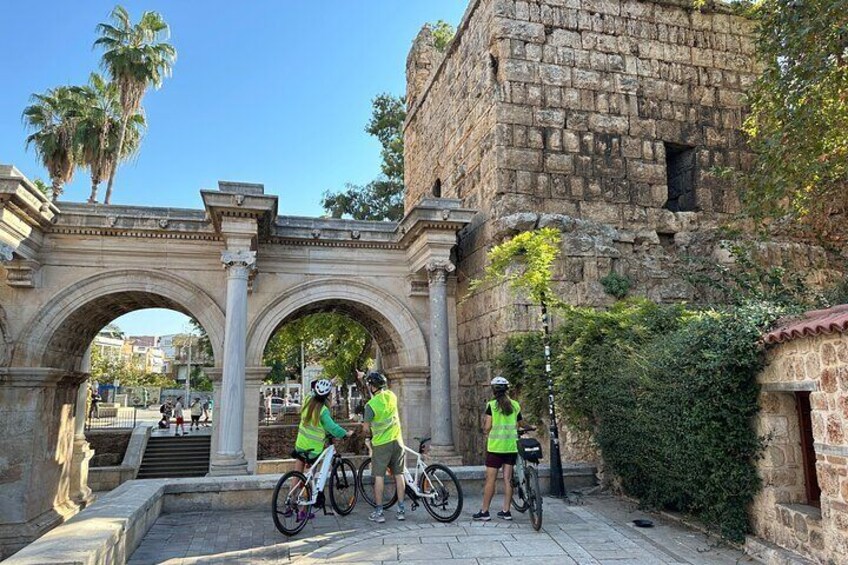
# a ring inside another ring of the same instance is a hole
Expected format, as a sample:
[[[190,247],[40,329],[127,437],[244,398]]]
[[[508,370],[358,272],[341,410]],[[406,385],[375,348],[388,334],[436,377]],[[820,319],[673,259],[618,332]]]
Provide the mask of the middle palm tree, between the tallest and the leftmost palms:
[[[118,161],[138,149],[145,122],[140,111],[130,116],[119,159],[118,136],[123,114],[117,85],[98,73],[91,73],[88,85],[80,88],[79,92],[81,104],[76,135],[81,163],[91,173],[91,195],[88,201],[93,203],[97,202],[100,183],[109,178]]]

